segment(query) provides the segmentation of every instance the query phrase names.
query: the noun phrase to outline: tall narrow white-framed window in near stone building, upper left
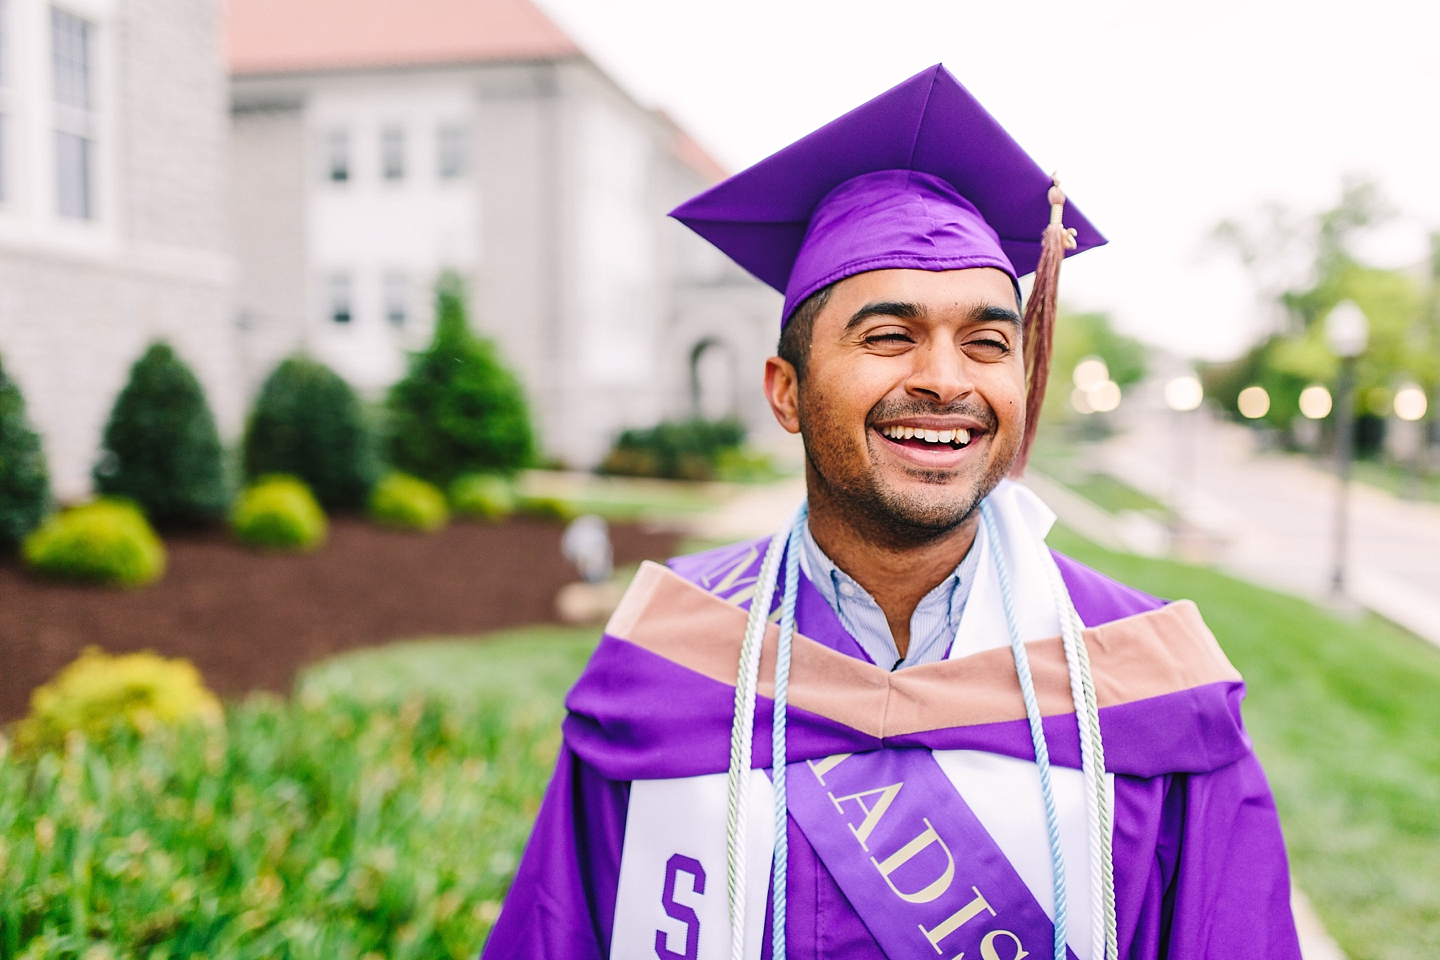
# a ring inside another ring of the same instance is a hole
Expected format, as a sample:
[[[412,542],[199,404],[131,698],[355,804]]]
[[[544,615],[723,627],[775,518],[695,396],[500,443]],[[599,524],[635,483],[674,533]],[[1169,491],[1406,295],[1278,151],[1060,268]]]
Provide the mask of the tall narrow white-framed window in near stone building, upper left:
[[[55,206],[62,217],[95,216],[95,26],[50,9],[55,82]]]

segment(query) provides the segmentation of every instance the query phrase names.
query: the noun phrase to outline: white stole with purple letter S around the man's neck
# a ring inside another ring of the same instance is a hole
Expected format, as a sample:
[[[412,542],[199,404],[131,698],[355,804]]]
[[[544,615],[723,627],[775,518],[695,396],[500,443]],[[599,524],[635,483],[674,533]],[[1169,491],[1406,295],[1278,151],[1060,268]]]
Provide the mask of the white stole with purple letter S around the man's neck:
[[[1056,515],[1028,488],[1012,481],[1001,481],[986,502],[995,515],[999,543],[992,544],[981,524],[973,547],[981,550],[975,583],[971,584],[950,658],[1009,646],[995,550],[1001,551],[1009,573],[1021,639],[1028,642],[1060,635],[1060,613],[1050,571],[1054,558],[1044,543]],[[1035,901],[1054,918],[1054,879],[1038,767],[1032,760],[979,750],[936,750],[933,754],[956,792],[965,797],[1025,881]],[[1079,960],[1092,960],[1084,779],[1080,770],[1053,766],[1051,784],[1066,862],[1067,938]],[[1107,774],[1106,784],[1113,796],[1115,777]],[[759,960],[775,842],[773,793],[769,777],[760,770],[752,771],[750,777],[747,836],[744,956],[747,960]],[[677,853],[703,866],[703,894],[694,891],[690,874],[667,871],[667,864]],[[615,928],[611,937],[613,960],[655,960],[662,956],[657,950],[661,946],[657,933],[665,937],[662,943],[672,956],[727,960],[730,913],[724,869],[726,774],[634,782],[615,897]],[[671,904],[693,910],[693,920],[684,910],[667,907],[665,887],[667,879],[671,879],[667,874],[674,874],[672,889],[668,891]],[[681,918],[674,914],[681,914]],[[698,943],[691,948],[688,937],[694,927],[698,927]]]

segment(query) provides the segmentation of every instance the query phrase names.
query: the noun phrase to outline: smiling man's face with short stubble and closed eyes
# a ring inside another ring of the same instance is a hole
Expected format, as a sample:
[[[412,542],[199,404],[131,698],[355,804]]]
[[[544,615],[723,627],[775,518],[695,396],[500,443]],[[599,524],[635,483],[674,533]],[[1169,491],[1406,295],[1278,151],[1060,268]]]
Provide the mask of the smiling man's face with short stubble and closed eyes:
[[[778,358],[766,371],[776,416],[805,438],[821,486],[812,497],[900,543],[969,518],[1024,433],[1015,307],[1009,276],[988,268],[837,284],[815,318],[804,380],[786,387],[789,364]]]

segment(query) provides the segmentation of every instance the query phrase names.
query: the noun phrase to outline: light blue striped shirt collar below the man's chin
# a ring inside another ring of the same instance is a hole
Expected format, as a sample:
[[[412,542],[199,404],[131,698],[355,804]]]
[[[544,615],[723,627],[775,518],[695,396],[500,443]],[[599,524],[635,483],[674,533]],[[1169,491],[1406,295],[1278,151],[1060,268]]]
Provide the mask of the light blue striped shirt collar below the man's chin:
[[[976,531],[976,545],[982,534],[984,531]],[[890,622],[886,620],[884,610],[863,586],[825,556],[811,535],[809,524],[805,525],[801,569],[870,659],[884,669],[894,671],[945,659],[955,633],[960,629],[960,616],[971,596],[971,584],[975,583],[979,553],[972,545],[955,573],[924,594],[914,607],[914,613],[910,615],[910,648],[904,658],[900,656],[900,649],[890,635]]]

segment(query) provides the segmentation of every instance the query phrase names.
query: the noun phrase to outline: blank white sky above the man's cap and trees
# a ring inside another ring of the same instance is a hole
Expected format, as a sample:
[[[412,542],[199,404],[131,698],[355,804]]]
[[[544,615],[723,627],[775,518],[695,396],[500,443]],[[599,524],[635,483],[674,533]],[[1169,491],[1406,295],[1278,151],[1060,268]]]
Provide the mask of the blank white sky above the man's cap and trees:
[[[1061,294],[1179,353],[1257,332],[1210,227],[1263,200],[1333,203],[1346,171],[1403,212],[1367,253],[1440,227],[1440,4],[1041,0],[539,0],[641,102],[739,170],[943,62],[1110,245]]]

